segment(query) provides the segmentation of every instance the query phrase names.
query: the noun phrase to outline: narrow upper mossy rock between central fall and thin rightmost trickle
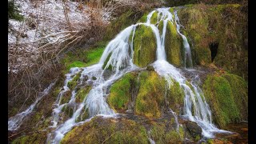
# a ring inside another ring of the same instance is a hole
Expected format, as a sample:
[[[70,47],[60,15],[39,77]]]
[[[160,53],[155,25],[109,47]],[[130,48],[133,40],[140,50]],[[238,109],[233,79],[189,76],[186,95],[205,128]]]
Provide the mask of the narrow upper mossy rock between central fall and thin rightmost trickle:
[[[162,28],[163,22],[161,21],[158,26],[161,33]],[[176,29],[176,26],[172,22],[167,22],[165,39],[166,59],[174,66],[181,66],[184,48],[182,37],[178,34]]]

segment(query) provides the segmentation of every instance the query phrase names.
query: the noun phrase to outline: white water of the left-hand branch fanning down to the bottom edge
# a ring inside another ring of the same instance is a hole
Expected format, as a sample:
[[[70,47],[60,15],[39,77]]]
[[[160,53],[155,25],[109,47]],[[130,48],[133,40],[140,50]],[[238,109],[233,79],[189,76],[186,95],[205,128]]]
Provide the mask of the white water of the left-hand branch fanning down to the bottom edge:
[[[74,114],[72,117],[58,126],[52,134],[48,135],[48,142],[60,142],[66,132],[70,131],[73,126],[77,126],[81,123],[76,122],[76,118],[78,118],[83,109],[87,109],[89,111],[90,118],[98,114],[107,117],[114,117],[116,115],[114,110],[111,110],[106,103],[106,89],[118,78],[121,78],[123,74],[138,69],[138,67],[134,66],[132,63],[133,50],[130,49],[131,43],[129,41],[130,34],[133,32],[134,35],[136,26],[137,25],[129,26],[118,34],[118,36],[114,38],[108,46],[106,46],[106,50],[102,54],[102,58],[98,64],[83,68],[80,83],[82,83],[82,79],[84,77],[88,77],[88,81],[93,82],[93,87],[83,102],[78,104],[77,109],[74,108]],[[129,53],[129,49],[131,53]],[[111,56],[109,57],[110,54]],[[109,60],[106,63],[105,69],[102,70],[102,66],[108,57]],[[109,66],[112,66],[112,70],[114,72],[110,75],[110,78],[105,79],[103,74]],[[96,80],[93,80],[93,78],[96,78]],[[61,108],[58,110],[61,110]],[[86,121],[88,121],[88,119]]]

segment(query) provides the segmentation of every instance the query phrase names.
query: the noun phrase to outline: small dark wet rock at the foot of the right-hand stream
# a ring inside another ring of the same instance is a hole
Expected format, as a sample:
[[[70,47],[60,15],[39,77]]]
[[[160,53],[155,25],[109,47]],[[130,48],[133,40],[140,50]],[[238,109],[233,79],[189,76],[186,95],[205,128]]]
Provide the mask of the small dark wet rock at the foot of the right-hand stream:
[[[202,138],[202,128],[198,126],[196,122],[187,121],[186,122],[186,129],[191,134],[193,138],[197,138],[200,136]]]

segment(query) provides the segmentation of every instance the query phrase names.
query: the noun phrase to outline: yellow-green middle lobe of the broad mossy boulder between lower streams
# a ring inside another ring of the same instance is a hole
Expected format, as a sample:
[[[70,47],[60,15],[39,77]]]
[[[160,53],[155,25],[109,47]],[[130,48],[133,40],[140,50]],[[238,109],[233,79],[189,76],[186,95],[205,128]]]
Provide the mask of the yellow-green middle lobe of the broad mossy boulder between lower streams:
[[[139,74],[139,81],[135,113],[146,117],[160,117],[165,97],[165,79],[154,71],[143,71]]]

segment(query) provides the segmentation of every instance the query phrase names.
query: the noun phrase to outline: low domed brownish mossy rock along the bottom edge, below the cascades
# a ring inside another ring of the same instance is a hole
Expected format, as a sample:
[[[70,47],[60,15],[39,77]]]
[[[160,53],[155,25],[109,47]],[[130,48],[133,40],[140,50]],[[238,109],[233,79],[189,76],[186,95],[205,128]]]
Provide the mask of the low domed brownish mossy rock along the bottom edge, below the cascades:
[[[93,118],[62,139],[65,143],[148,143],[146,129],[124,118]]]

